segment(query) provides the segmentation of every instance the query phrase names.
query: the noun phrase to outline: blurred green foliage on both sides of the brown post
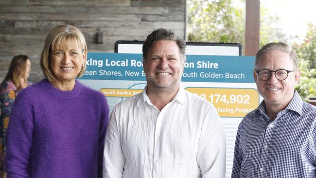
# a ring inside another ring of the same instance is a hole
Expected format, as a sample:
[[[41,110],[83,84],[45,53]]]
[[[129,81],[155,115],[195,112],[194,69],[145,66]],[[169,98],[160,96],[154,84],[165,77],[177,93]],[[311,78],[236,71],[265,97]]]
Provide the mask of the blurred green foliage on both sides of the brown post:
[[[242,5],[236,5],[236,3]],[[188,41],[241,43],[245,46],[245,0],[187,0]],[[260,46],[286,42],[279,17],[260,7]]]

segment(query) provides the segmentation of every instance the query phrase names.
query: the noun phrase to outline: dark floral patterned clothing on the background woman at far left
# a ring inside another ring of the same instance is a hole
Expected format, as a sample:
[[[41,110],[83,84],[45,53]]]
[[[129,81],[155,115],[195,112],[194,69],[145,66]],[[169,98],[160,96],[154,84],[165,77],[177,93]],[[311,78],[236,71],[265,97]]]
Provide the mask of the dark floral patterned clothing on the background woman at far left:
[[[32,83],[28,81],[28,84]],[[0,166],[4,171],[5,137],[10,119],[11,108],[18,94],[18,89],[11,80],[6,80],[0,86]]]

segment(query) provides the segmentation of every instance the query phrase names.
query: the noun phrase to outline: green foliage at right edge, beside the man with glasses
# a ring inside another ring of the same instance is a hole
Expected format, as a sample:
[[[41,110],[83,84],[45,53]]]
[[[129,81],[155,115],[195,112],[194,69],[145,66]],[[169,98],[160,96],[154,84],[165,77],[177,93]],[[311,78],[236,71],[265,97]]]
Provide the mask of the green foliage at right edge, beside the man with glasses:
[[[316,24],[308,24],[304,42],[294,43],[292,48],[300,59],[301,77],[296,89],[303,100],[308,101],[310,96],[316,96]]]

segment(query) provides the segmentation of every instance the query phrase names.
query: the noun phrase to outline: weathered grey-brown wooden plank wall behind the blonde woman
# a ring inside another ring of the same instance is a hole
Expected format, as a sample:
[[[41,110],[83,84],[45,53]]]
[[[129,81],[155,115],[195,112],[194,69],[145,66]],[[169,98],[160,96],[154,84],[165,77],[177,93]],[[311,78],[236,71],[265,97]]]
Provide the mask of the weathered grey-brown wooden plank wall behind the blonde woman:
[[[144,40],[154,29],[185,36],[186,0],[0,0],[0,81],[14,55],[31,58],[30,80],[43,78],[40,53],[48,32],[66,23],[85,35],[88,52],[114,53],[117,40]],[[97,33],[103,32],[103,44]]]

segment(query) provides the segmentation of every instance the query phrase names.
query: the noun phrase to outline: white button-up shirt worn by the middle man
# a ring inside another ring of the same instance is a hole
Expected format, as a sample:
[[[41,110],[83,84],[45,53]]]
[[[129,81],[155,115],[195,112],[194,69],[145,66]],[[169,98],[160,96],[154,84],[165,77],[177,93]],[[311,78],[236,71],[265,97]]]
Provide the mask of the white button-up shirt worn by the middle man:
[[[145,91],[111,113],[103,177],[224,178],[225,134],[213,105],[179,89],[159,111]]]

